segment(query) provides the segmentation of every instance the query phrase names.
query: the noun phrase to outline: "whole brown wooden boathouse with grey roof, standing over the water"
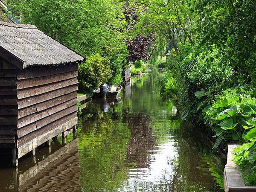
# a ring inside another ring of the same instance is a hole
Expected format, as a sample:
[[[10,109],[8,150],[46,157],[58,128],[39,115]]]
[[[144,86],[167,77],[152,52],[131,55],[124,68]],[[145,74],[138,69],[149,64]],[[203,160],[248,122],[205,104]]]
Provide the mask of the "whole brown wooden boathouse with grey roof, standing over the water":
[[[18,158],[77,125],[84,57],[33,25],[0,22],[0,148]]]

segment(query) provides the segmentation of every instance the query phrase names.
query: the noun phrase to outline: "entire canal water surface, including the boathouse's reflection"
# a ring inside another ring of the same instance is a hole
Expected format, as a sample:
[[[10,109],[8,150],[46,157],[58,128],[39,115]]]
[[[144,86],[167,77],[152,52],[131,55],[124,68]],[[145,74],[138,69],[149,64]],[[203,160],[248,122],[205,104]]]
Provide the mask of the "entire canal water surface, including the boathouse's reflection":
[[[119,99],[83,106],[78,137],[0,167],[0,192],[223,191],[224,155],[160,96],[161,73],[133,77]],[[36,163],[34,162],[36,161]]]

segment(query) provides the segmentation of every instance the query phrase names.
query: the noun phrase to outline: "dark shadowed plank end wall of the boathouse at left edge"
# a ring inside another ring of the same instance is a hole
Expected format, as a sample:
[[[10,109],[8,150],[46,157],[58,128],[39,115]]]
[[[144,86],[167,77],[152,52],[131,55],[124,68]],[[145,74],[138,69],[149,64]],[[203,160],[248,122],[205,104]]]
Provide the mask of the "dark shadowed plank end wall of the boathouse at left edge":
[[[16,67],[0,57],[0,146],[15,147],[16,134]]]

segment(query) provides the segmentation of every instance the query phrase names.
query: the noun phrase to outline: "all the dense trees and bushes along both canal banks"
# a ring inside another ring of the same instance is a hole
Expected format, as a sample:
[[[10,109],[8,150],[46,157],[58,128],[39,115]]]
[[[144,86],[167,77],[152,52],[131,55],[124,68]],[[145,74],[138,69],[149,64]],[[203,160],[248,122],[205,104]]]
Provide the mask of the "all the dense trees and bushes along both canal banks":
[[[143,69],[139,60],[152,55],[154,63],[169,50],[160,65],[166,68],[161,92],[177,99],[183,119],[212,128],[214,148],[253,142],[237,162],[256,165],[255,0],[8,2],[23,23],[87,57],[79,66],[84,92],[102,82],[120,83],[127,60],[138,61],[131,69],[137,73]]]

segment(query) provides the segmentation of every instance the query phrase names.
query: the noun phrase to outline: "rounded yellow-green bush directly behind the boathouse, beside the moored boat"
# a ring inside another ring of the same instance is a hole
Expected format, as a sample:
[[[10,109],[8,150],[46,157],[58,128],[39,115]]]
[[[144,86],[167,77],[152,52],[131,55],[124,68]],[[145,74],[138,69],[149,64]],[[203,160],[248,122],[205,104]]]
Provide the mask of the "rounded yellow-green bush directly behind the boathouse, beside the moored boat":
[[[99,54],[90,55],[84,63],[79,64],[79,91],[91,93],[111,76],[110,62]]]

